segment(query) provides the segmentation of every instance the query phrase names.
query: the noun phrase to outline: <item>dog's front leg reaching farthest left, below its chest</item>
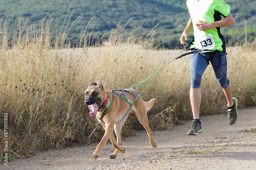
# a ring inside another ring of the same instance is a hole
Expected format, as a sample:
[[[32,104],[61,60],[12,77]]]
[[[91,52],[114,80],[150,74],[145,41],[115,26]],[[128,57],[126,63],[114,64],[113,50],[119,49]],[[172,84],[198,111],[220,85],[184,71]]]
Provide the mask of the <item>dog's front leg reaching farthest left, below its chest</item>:
[[[97,148],[93,152],[92,158],[96,159],[99,157],[99,153],[102,150],[103,145],[105,145],[106,141],[108,141],[111,134],[113,135],[114,124],[105,124],[104,129],[105,129],[105,133],[104,133],[102,139],[100,140],[99,144],[97,145]]]

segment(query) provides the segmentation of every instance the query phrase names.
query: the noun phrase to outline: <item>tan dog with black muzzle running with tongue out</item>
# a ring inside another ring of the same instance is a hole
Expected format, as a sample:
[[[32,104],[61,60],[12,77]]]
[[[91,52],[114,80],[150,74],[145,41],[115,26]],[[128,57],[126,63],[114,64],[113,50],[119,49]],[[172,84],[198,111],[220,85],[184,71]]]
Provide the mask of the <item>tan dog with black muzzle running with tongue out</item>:
[[[113,147],[116,148],[113,154],[109,156],[110,159],[116,158],[119,151],[121,153],[125,152],[125,149],[121,148],[121,130],[129,115],[137,116],[146,129],[150,144],[154,148],[157,147],[147,119],[147,111],[157,103],[155,98],[149,102],[144,102],[135,89],[109,91],[104,90],[101,83],[99,85],[92,83],[84,92],[84,98],[84,103],[90,109],[90,115],[97,118],[105,130],[101,141],[92,154],[92,158],[99,157],[100,151],[108,139],[111,140]],[[117,140],[113,131],[115,131]]]

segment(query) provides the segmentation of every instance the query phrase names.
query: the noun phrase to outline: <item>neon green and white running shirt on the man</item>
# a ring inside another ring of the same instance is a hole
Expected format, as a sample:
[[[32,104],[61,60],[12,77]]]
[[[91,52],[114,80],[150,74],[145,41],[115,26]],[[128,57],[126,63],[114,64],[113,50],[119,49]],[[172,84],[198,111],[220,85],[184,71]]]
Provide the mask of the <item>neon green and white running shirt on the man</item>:
[[[222,16],[226,17],[230,13],[230,6],[222,0],[187,0],[186,4],[194,28],[190,47],[225,52],[225,39],[220,28],[200,31],[195,24],[200,20],[208,23],[221,20]]]

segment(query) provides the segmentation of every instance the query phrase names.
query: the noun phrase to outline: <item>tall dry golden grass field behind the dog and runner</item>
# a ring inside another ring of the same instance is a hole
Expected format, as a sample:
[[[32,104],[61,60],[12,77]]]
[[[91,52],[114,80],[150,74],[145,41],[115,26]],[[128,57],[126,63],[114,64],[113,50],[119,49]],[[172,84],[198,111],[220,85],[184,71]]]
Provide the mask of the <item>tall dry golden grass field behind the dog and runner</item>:
[[[134,87],[180,52],[153,47],[155,29],[145,38],[116,31],[108,40],[91,46],[86,28],[78,48],[70,48],[71,43],[65,40],[68,29],[55,34],[50,28],[51,19],[38,25],[19,21],[12,29],[1,23],[0,121],[2,125],[3,114],[8,113],[9,151],[13,156],[100,140],[103,129],[83,104],[86,87],[93,82],[102,82],[109,90]],[[255,106],[255,41],[229,47],[227,53],[228,78],[239,107]],[[148,113],[152,129],[169,129],[191,118],[189,62],[189,56],[175,60],[138,88],[144,101],[158,100]],[[201,112],[216,114],[225,108],[224,94],[209,66],[202,80]],[[141,128],[135,117],[127,121],[124,135]],[[3,126],[0,129],[2,144]],[[3,151],[3,145],[0,148]]]

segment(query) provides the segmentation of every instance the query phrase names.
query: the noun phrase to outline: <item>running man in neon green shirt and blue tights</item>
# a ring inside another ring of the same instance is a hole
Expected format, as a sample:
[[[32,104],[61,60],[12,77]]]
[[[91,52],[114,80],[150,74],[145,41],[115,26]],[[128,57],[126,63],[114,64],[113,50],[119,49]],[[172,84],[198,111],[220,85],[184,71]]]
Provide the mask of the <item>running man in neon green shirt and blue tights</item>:
[[[234,19],[230,13],[230,6],[222,0],[187,0],[186,4],[190,18],[180,42],[186,45],[184,41],[187,40],[187,34],[194,29],[194,39],[190,43],[190,48],[206,50],[192,54],[190,62],[189,98],[194,119],[187,135],[198,135],[203,131],[199,119],[201,78],[209,62],[227,99],[228,123],[233,125],[238,119],[238,100],[233,98],[232,85],[227,79],[225,39],[220,32],[220,27],[233,25]]]

